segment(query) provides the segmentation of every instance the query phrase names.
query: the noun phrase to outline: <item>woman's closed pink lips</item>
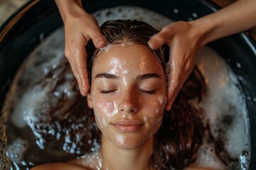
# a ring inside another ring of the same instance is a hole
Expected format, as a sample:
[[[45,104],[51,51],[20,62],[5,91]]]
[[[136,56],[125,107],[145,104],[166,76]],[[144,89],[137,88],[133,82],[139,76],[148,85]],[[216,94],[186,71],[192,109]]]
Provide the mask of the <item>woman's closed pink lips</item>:
[[[137,132],[141,130],[144,123],[139,120],[118,120],[112,125],[121,132]]]

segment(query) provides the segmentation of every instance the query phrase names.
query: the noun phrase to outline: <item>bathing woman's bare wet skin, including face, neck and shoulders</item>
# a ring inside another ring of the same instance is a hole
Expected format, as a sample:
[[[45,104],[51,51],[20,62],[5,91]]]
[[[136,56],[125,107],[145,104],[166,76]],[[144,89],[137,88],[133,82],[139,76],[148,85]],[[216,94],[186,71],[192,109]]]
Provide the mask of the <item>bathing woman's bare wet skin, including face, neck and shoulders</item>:
[[[86,157],[43,164],[33,170],[154,169],[154,134],[161,125],[166,101],[166,75],[151,50],[142,45],[112,45],[96,57],[87,95],[102,132],[100,164]]]

